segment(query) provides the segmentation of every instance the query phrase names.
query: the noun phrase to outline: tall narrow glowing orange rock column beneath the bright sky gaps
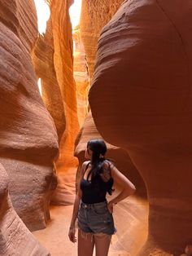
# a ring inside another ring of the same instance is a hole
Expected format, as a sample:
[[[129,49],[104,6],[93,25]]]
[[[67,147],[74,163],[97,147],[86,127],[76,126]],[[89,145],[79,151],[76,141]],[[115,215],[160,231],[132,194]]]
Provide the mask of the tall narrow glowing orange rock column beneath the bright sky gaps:
[[[73,78],[72,24],[68,9],[73,1],[49,1],[50,20],[33,51],[33,64],[41,78],[42,98],[54,118],[59,135],[59,156],[55,161],[58,186],[53,204],[72,204],[75,195],[77,159],[74,141],[79,131],[76,84]]]

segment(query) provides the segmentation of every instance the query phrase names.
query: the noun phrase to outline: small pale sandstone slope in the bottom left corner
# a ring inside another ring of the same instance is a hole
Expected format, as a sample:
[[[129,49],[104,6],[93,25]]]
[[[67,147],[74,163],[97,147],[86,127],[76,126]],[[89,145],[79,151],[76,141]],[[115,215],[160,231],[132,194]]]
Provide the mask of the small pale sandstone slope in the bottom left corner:
[[[8,192],[9,178],[0,164],[0,255],[49,256],[16,214]]]

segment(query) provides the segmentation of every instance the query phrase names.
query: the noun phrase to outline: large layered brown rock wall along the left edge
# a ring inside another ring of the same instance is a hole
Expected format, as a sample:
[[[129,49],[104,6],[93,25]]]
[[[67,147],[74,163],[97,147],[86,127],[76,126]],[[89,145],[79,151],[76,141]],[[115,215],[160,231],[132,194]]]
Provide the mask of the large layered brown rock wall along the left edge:
[[[33,1],[0,1],[0,38],[0,161],[9,175],[17,214],[36,230],[50,218],[58,143],[30,56],[37,39]]]

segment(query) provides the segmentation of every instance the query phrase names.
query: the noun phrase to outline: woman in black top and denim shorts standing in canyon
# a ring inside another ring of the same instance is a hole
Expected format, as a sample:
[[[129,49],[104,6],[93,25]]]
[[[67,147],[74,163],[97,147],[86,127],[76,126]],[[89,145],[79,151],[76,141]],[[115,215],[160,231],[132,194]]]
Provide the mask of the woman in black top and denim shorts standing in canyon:
[[[75,222],[78,218],[78,256],[92,256],[94,245],[96,256],[107,256],[111,235],[116,232],[113,222],[113,206],[135,192],[133,183],[105,159],[106,143],[102,139],[91,139],[87,143],[85,161],[81,167],[78,192],[73,207],[68,236],[76,242]],[[113,185],[122,191],[107,202]],[[77,217],[78,215],[78,217]]]

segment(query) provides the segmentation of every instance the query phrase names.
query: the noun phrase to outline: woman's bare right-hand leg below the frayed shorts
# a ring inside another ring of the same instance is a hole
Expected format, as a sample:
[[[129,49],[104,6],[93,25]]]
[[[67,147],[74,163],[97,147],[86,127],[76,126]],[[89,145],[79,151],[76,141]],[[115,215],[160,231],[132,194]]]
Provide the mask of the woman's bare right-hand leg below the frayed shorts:
[[[111,243],[111,235],[103,233],[94,234],[94,243],[96,256],[107,256],[109,245]]]

